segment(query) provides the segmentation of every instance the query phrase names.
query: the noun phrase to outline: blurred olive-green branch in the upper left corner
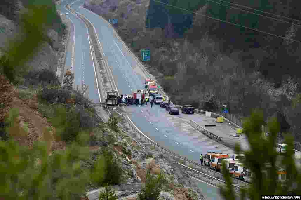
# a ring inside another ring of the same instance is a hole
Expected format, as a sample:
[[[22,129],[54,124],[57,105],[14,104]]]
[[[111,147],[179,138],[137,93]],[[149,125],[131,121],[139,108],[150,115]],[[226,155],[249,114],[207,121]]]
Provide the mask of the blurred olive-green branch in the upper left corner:
[[[56,6],[51,0],[28,1],[20,11],[20,31],[11,39],[0,58],[0,72],[17,84],[17,77],[26,71],[24,64],[39,51],[43,42],[49,42],[47,32],[57,19]]]

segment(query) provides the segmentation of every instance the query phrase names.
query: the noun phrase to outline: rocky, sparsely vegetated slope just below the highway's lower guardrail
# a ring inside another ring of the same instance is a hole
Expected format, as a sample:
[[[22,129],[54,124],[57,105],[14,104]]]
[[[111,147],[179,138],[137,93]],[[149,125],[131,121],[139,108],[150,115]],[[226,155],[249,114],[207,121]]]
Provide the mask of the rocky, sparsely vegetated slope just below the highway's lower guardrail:
[[[122,112],[119,110],[118,112]],[[168,178],[168,186],[160,194],[164,200],[204,200],[197,185],[177,166],[177,158],[169,158],[159,152],[151,143],[139,138],[126,125],[122,117],[119,117],[120,133],[113,133],[107,130],[107,135],[115,138],[115,143],[111,146],[116,158],[120,160],[123,168],[124,183],[145,183],[146,169],[151,168],[152,174],[163,171]],[[101,141],[96,141],[95,150],[98,146],[106,145]],[[96,156],[95,156],[96,159]],[[89,188],[94,190],[98,188]],[[119,199],[137,199],[139,191],[124,191],[117,196]]]

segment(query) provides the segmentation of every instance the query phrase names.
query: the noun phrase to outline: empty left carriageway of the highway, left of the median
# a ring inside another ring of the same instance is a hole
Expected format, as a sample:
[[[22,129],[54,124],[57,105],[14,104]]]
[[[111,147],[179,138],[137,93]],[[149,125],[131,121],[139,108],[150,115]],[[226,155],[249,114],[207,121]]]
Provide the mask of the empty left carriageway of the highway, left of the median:
[[[62,2],[62,4],[58,6],[62,14],[69,13],[69,11],[64,8],[66,4],[67,1]],[[92,99],[93,103],[99,103],[87,28],[85,27],[85,23],[73,14],[69,13],[66,16],[72,23],[70,43],[68,44],[66,54],[65,69],[70,68],[74,73],[74,88],[78,86],[82,89],[83,84],[88,85],[89,89],[87,94],[89,95],[89,99]],[[73,34],[75,37],[73,37]],[[72,55],[74,60],[71,68]]]

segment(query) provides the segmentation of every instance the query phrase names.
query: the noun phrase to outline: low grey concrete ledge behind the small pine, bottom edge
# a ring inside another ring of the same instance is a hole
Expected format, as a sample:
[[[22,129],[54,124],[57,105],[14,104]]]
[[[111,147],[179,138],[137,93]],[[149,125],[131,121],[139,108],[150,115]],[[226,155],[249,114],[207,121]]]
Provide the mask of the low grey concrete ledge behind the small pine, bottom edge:
[[[140,190],[144,183],[132,183],[132,184],[120,184],[111,186],[115,192],[117,191],[127,191],[127,190]],[[100,192],[104,191],[104,187],[96,190],[92,190],[91,192],[87,192],[86,196],[89,200],[98,200]]]

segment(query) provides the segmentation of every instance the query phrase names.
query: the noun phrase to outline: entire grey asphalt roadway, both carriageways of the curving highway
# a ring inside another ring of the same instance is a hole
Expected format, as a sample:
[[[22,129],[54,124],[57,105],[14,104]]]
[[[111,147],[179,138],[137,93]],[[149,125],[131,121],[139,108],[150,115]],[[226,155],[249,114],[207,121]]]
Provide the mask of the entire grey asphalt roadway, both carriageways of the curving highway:
[[[67,1],[59,6],[62,13],[68,12],[64,8],[66,3]],[[76,12],[84,15],[95,26],[99,41],[104,50],[104,57],[112,71],[119,93],[130,94],[133,90],[143,88],[145,77],[144,74],[138,70],[139,66],[135,58],[132,57],[132,54],[123,43],[119,41],[115,32],[107,22],[98,15],[82,8],[83,3],[84,0],[75,1],[70,6]],[[94,77],[94,72],[91,55],[89,54],[87,29],[84,23],[76,16],[69,14],[68,17],[70,17],[74,23],[76,35],[73,72],[75,74],[78,72],[76,79],[80,82],[83,80],[83,78],[81,78],[83,76],[80,72],[81,70],[84,71],[86,77],[85,84],[88,83],[90,86],[90,98],[94,93],[94,100],[97,101],[98,92],[94,86],[95,78],[92,78]],[[82,66],[83,62],[85,62],[84,67]],[[66,66],[68,66],[67,59]],[[94,88],[91,87],[91,85],[93,85]],[[228,154],[234,153],[232,149],[211,140],[185,123],[187,119],[185,119],[182,113],[180,113],[179,116],[167,115],[165,109],[160,108],[159,105],[154,105],[153,108],[151,108],[149,104],[148,106],[126,106],[125,110],[131,120],[144,134],[147,134],[147,136],[160,145],[188,159],[199,162],[200,153],[205,154],[208,151],[218,151]],[[207,197],[206,199],[222,199],[218,188],[201,181],[197,181],[196,183],[204,193],[204,196]]]

